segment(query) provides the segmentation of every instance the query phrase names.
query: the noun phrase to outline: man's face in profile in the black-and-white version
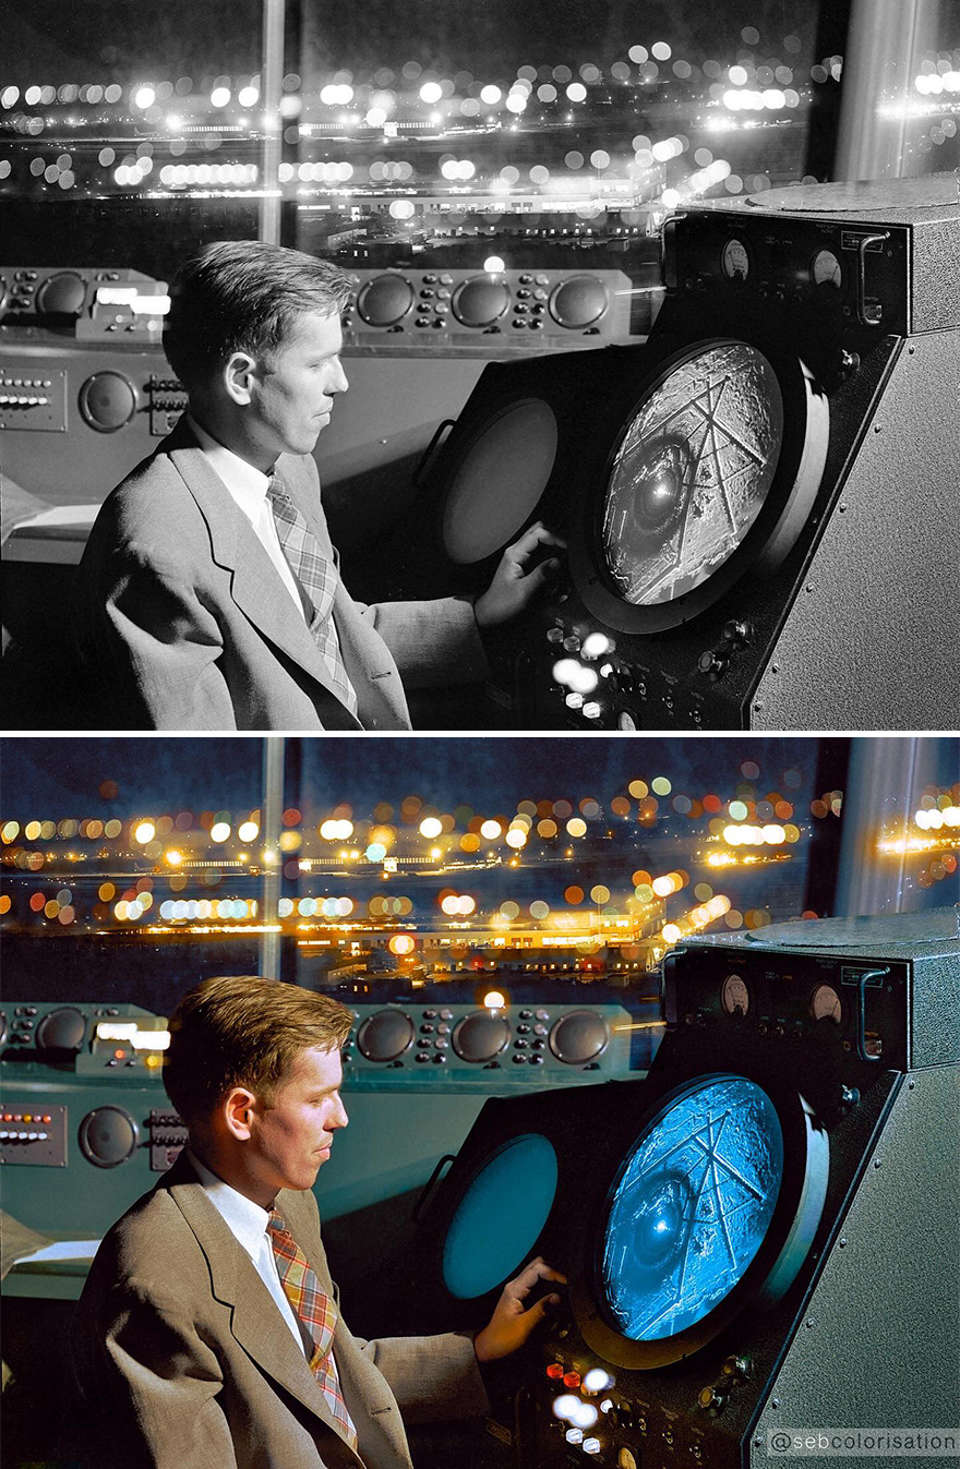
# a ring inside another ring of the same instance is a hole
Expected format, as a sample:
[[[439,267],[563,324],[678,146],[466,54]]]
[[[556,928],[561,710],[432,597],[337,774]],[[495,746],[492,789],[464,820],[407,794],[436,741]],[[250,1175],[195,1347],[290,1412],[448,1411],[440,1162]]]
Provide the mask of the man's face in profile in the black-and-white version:
[[[248,427],[266,457],[313,451],[335,394],[347,391],[341,350],[340,316],[304,311],[269,360],[257,363]]]

